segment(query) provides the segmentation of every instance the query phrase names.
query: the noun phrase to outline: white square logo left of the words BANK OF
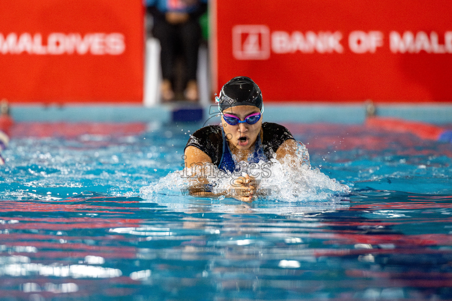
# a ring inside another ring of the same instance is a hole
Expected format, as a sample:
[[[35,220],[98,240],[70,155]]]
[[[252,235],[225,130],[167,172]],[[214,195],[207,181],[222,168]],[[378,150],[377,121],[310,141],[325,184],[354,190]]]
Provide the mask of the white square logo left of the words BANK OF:
[[[237,60],[267,60],[270,30],[265,25],[236,25],[232,28],[232,52]]]

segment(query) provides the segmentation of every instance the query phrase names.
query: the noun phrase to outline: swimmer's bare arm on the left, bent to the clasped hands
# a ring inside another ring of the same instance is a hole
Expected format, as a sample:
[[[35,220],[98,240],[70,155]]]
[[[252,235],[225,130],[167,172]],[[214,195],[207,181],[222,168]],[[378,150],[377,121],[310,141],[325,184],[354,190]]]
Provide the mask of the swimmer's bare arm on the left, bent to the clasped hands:
[[[203,167],[205,167],[206,163],[213,164],[212,159],[207,155],[207,153],[204,153],[199,148],[191,146],[191,145],[188,146],[187,148],[185,148],[185,166],[187,168],[190,168],[194,165],[202,165]],[[204,172],[204,174],[207,174],[207,173]],[[194,177],[196,177],[196,175]],[[241,179],[241,178],[243,178],[243,179]],[[227,195],[227,193],[214,194],[212,192],[207,192],[207,191],[196,191],[196,190],[202,189],[203,185],[209,184],[209,181],[205,177],[198,177],[196,179],[196,181],[197,181],[197,183],[195,185],[193,185],[190,189],[191,190],[190,195],[198,196],[198,197],[209,197],[209,198],[212,198],[215,196],[220,196],[220,195],[229,196],[229,195]],[[245,185],[245,184],[250,183],[250,178],[249,177],[247,177],[247,178],[239,177],[238,181],[240,183],[243,183],[243,185]],[[246,187],[240,186],[237,188],[245,188],[245,189],[254,190],[254,187],[252,187],[252,186],[246,186]],[[231,197],[240,198],[241,201],[250,203],[254,199],[253,193],[254,193],[254,191],[251,191],[250,193],[248,193],[248,195],[231,196]]]

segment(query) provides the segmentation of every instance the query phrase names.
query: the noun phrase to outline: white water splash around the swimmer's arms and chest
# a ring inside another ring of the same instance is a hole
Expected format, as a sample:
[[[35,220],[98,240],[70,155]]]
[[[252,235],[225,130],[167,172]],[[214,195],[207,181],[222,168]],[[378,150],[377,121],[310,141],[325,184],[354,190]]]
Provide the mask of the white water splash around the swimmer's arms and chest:
[[[330,179],[318,168],[311,168],[309,154],[303,144],[300,143],[296,153],[296,158],[287,155],[279,161],[273,158],[270,162],[260,161],[254,165],[239,162],[236,164],[239,170],[233,173],[224,172],[213,165],[204,165],[204,173],[201,173],[199,166],[193,171],[191,168],[185,168],[182,171],[170,172],[155,185],[142,187],[140,194],[145,199],[152,199],[153,195],[168,191],[182,196],[181,191],[196,183],[195,179],[190,178],[193,173],[202,174],[204,181],[212,185],[212,191],[233,189],[233,179],[243,173],[253,175],[258,183],[258,194],[261,194],[259,197],[274,201],[327,200],[350,191],[347,185]]]

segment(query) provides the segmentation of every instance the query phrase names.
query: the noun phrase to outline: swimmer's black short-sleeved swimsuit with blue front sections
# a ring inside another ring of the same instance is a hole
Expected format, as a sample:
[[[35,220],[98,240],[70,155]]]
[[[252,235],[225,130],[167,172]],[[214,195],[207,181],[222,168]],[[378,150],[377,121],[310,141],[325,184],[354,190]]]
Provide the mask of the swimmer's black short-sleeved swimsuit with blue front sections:
[[[258,136],[251,162],[269,161],[284,141],[294,139],[286,127],[277,123],[264,122],[262,130],[264,139],[261,142],[260,135]],[[208,125],[197,130],[188,139],[185,148],[187,146],[194,146],[202,150],[218,168],[231,172],[235,170],[235,162],[231,157],[229,145],[220,125]]]

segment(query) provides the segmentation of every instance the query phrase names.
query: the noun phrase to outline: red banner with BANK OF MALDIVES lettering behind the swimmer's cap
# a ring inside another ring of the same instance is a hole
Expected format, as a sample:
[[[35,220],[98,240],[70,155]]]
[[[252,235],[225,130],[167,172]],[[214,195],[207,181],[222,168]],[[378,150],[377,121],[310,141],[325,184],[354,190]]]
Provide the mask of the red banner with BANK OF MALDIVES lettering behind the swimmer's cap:
[[[216,93],[245,75],[271,101],[450,102],[451,11],[450,0],[217,0]]]

